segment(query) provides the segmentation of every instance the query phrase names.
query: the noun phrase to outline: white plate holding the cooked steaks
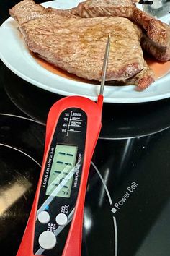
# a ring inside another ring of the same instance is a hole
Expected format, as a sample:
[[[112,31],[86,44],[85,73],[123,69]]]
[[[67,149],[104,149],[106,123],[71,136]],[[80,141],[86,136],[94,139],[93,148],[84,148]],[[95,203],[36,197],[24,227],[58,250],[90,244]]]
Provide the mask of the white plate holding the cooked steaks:
[[[80,0],[48,1],[45,7],[70,9],[76,7]],[[164,17],[169,22],[169,16]],[[92,100],[97,99],[99,85],[78,82],[61,77],[37,64],[28,51],[26,43],[17,28],[17,23],[9,17],[0,27],[0,57],[9,69],[27,82],[39,88],[60,95],[84,95]],[[157,80],[142,92],[135,90],[134,85],[105,86],[104,102],[140,103],[157,101],[170,97],[170,74]]]

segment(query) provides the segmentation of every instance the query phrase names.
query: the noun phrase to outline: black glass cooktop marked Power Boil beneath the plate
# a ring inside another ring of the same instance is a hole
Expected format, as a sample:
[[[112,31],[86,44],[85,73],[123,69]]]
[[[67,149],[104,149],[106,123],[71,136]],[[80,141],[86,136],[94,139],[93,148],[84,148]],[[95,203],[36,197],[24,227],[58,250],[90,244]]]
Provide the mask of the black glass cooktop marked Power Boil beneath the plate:
[[[1,1],[1,22],[15,3]],[[17,254],[40,174],[48,111],[60,98],[25,82],[0,62],[3,255]],[[104,103],[86,190],[83,256],[170,255],[169,116],[169,98]]]

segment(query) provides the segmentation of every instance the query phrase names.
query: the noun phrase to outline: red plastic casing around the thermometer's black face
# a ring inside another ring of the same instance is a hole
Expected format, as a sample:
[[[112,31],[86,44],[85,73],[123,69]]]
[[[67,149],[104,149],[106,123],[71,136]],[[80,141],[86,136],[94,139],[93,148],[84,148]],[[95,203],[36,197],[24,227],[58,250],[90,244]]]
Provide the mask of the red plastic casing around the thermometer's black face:
[[[45,163],[48,157],[50,143],[53,139],[55,127],[58,118],[66,108],[81,108],[86,112],[87,128],[86,128],[86,143],[84,151],[84,163],[82,168],[81,183],[79,187],[79,194],[76,200],[76,207],[71,221],[71,228],[68,232],[65,247],[62,256],[81,256],[81,237],[82,237],[82,223],[84,214],[84,200],[86,195],[86,184],[89,176],[89,168],[91,158],[94,153],[94,148],[99,137],[99,132],[102,126],[102,95],[99,95],[98,102],[89,100],[81,96],[69,96],[57,101],[48,114],[46,137],[45,137],[45,151],[42,161],[42,169],[40,172],[40,179],[37,184],[37,191],[35,193],[35,200],[32,205],[30,217],[27,222],[26,229],[20,244],[17,256],[34,256],[33,245],[35,235],[35,220],[37,213],[37,204],[40,195],[40,188],[45,168]],[[56,255],[58,256],[58,255]]]

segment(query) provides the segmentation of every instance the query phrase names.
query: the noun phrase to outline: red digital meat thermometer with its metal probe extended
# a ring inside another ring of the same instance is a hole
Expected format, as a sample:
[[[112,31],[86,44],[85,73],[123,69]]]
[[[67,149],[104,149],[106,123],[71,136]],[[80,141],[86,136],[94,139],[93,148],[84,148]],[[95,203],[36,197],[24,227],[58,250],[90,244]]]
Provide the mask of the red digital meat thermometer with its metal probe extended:
[[[97,103],[69,96],[50,108],[40,179],[17,256],[81,256],[86,184],[101,129],[109,46],[110,35]]]

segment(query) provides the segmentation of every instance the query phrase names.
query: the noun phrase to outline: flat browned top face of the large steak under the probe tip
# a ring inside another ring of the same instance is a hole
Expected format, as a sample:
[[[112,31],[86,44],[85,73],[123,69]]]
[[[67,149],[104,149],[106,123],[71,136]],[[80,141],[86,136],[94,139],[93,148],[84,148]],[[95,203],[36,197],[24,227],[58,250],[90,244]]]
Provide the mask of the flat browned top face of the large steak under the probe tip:
[[[73,19],[52,15],[26,22],[20,30],[31,51],[88,80],[101,80],[109,33],[112,39],[106,80],[126,80],[143,69],[140,30],[122,17]]]

